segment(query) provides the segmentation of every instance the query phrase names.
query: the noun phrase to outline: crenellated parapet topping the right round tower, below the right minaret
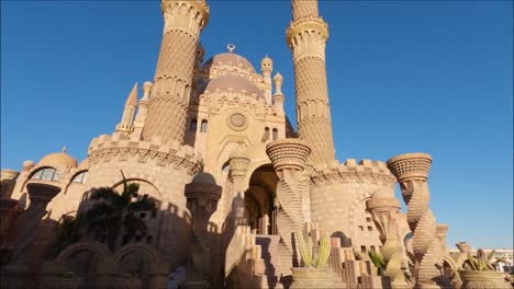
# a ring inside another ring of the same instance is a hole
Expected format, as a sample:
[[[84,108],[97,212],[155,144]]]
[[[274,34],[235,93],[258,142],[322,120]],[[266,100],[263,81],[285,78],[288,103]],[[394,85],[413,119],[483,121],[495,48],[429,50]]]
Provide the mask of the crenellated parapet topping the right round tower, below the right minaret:
[[[314,167],[311,180],[314,185],[366,183],[378,184],[388,189],[394,188],[395,184],[395,178],[386,163],[367,159],[359,163],[355,159],[347,159],[342,165],[334,161],[324,169]]]

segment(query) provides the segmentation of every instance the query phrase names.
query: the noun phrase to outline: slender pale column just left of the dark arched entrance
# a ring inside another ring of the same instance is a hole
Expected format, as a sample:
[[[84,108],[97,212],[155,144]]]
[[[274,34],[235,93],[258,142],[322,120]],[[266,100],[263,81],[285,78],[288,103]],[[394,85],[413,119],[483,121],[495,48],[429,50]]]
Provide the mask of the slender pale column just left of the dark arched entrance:
[[[245,189],[247,184],[245,183],[246,174],[248,172],[249,159],[244,157],[242,150],[237,149],[231,154],[231,181],[233,185],[234,198],[232,204],[232,215],[235,219],[235,224],[246,224],[245,218]]]

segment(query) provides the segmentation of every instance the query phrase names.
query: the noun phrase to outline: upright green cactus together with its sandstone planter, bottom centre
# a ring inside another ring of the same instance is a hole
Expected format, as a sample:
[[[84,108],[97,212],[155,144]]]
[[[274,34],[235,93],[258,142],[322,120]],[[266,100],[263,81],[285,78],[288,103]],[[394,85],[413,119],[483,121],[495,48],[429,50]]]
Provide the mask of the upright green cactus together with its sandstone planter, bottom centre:
[[[290,288],[335,288],[334,273],[326,266],[331,255],[328,235],[325,233],[321,238],[314,252],[312,236],[308,235],[305,242],[303,233],[298,231],[298,244],[303,267],[291,268],[293,281]]]

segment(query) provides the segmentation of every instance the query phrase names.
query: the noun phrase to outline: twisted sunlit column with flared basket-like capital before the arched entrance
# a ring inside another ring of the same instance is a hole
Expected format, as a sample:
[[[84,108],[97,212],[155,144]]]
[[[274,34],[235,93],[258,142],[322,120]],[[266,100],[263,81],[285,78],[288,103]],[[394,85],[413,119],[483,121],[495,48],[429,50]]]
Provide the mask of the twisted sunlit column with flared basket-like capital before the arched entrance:
[[[266,153],[279,177],[277,199],[280,207],[277,212],[277,230],[288,248],[294,253],[293,233],[305,223],[302,198],[309,186],[304,182],[303,171],[311,148],[300,139],[280,139],[268,143]]]

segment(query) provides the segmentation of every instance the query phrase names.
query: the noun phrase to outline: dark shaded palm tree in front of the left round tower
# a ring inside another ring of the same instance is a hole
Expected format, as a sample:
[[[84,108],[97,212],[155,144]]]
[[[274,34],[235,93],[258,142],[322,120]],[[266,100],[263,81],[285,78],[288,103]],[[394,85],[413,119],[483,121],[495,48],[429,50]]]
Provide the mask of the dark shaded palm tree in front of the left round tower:
[[[123,227],[128,240],[137,231],[146,235],[146,223],[135,217],[136,212],[150,210],[156,212],[155,203],[147,195],[132,201],[137,197],[139,185],[127,184],[123,175],[123,192],[120,194],[111,187],[93,188],[90,199],[93,200],[92,208],[85,213],[85,223],[89,232],[96,236],[105,234],[105,241],[112,251],[115,250],[116,239]]]

